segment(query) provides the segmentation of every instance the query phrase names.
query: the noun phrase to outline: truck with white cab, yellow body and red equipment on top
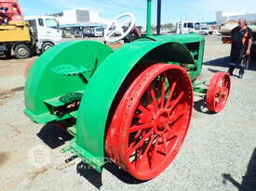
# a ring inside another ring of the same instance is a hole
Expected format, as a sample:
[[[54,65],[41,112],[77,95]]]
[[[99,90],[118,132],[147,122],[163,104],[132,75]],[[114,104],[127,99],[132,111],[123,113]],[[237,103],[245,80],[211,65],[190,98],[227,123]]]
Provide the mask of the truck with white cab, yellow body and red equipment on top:
[[[0,55],[24,59],[60,42],[56,19],[49,16],[24,19],[18,0],[0,0]]]

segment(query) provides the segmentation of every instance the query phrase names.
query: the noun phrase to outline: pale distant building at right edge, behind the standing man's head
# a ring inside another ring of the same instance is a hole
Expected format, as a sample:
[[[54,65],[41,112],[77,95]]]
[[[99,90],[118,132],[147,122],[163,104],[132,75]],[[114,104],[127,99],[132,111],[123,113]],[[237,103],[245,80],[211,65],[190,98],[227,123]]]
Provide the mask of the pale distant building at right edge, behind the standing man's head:
[[[256,13],[248,12],[216,12],[216,21],[218,24],[223,24],[228,21],[238,20],[240,18],[247,19],[249,22],[256,22]]]

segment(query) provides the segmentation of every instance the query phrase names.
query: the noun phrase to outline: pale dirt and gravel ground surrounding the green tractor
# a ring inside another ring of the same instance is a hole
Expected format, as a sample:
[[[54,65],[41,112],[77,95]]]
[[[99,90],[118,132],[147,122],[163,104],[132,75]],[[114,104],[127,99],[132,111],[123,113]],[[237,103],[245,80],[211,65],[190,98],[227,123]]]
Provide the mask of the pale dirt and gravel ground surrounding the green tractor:
[[[227,71],[230,45],[220,37],[207,37],[205,65],[199,80]],[[34,58],[0,57],[0,190],[256,190],[256,63],[243,80],[232,77],[227,106],[219,114],[195,112],[177,158],[154,180],[139,182],[115,165],[101,174],[61,154],[73,137],[51,124],[38,125],[23,114],[24,70]],[[237,74],[237,70],[236,70]],[[34,159],[38,157],[38,159]]]

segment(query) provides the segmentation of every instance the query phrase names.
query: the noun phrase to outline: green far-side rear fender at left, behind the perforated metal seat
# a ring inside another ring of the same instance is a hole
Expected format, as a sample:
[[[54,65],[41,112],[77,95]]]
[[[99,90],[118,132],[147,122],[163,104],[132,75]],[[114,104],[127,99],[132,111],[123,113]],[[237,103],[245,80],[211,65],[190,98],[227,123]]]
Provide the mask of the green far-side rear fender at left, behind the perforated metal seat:
[[[100,66],[113,50],[93,41],[69,41],[55,45],[38,57],[30,69],[25,83],[25,114],[38,123],[53,121],[45,100],[75,91],[84,91],[86,84],[77,76],[64,76],[52,71],[53,67],[72,65],[92,69]],[[96,63],[97,61],[97,63]],[[88,80],[93,71],[88,72]]]

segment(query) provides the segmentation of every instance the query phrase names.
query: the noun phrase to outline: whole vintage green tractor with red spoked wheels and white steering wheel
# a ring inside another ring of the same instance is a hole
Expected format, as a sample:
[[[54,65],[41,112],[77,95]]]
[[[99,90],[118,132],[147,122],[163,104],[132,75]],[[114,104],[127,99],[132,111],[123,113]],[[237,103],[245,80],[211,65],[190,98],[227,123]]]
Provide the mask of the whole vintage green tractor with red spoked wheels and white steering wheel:
[[[25,84],[24,112],[31,121],[54,121],[74,135],[64,151],[98,172],[111,159],[140,180],[155,178],[177,155],[191,122],[194,94],[217,113],[231,85],[223,72],[209,85],[195,83],[204,38],[195,33],[159,35],[160,0],[158,35],[153,35],[151,5],[147,0],[146,36],[115,51],[93,41],[56,45],[35,61]],[[119,40],[134,24],[131,17],[124,32],[119,19],[107,28],[112,42],[114,33],[119,31]]]

